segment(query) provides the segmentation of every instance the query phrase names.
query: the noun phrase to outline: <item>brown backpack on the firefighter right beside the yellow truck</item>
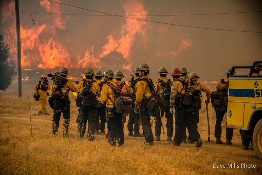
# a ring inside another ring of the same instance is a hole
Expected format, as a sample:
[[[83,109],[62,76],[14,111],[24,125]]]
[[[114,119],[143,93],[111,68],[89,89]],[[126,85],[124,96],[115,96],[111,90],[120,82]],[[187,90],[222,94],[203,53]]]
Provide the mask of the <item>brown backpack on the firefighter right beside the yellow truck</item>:
[[[211,93],[211,104],[215,110],[223,111],[227,109],[227,90],[229,81],[225,82],[221,79],[221,82],[217,84],[217,90]]]

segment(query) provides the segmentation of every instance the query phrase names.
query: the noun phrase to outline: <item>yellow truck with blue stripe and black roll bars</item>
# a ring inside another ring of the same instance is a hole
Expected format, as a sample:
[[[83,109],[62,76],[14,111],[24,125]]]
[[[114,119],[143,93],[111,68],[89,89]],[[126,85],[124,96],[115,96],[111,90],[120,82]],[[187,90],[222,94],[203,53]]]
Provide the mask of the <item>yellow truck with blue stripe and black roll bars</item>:
[[[253,147],[256,156],[262,159],[262,76],[252,75],[256,64],[234,66],[229,76],[226,121],[222,127],[253,132]],[[247,69],[247,75],[233,75],[234,71]]]

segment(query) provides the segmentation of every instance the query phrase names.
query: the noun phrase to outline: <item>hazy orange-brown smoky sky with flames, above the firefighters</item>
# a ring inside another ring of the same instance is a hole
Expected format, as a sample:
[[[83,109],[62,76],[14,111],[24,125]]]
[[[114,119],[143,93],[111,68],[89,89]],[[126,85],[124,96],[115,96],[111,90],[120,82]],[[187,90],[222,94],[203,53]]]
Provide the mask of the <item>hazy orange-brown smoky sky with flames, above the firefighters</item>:
[[[117,15],[174,15],[248,12],[262,10],[261,1],[69,1],[72,6]],[[102,15],[46,0],[28,0],[31,12]],[[0,30],[16,60],[14,1],[2,1]],[[19,0],[20,11],[28,11]],[[185,66],[200,81],[218,81],[228,66],[248,66],[262,59],[262,33],[221,31],[158,24],[116,16],[84,16],[20,12],[22,68],[58,71],[67,66],[69,76],[81,77],[94,71],[122,70],[129,77],[133,69],[147,63],[149,76],[158,78],[164,66],[169,72]],[[262,31],[262,13],[189,16],[133,17],[157,22],[205,28]],[[47,61],[48,60],[48,61]],[[48,62],[48,64],[47,64]],[[37,68],[38,67],[38,68]],[[132,71],[131,71],[132,70]],[[169,76],[171,78],[171,76]]]

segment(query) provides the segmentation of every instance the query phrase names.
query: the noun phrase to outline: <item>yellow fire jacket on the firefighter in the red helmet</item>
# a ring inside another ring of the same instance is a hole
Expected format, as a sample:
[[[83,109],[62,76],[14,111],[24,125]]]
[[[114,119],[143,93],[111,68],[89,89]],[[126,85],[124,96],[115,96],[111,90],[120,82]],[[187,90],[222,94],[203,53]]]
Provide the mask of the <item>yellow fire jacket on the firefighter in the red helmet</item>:
[[[178,79],[183,81],[181,78]],[[170,103],[175,103],[176,97],[181,96],[180,94],[182,94],[182,96],[185,94],[185,88],[183,87],[182,82],[177,80],[174,81],[171,85]]]

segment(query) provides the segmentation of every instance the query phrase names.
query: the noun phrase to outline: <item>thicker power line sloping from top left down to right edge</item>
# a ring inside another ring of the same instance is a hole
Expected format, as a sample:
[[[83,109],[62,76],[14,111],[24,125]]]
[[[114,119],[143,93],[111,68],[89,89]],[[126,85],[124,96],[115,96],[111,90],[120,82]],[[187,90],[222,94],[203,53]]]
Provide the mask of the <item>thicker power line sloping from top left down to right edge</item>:
[[[74,8],[79,8],[79,9],[83,9],[83,10],[88,10],[88,11],[92,11],[92,12],[97,12],[97,13],[102,13],[102,14],[107,14],[107,15],[112,15],[112,16],[117,16],[117,17],[122,17],[122,18],[136,19],[136,20],[140,20],[140,21],[147,21],[147,22],[152,22],[152,23],[167,24],[167,25],[176,25],[176,26],[199,28],[199,29],[223,30],[223,31],[237,31],[237,32],[250,32],[250,33],[262,33],[261,31],[245,31],[245,30],[216,29],[216,28],[197,27],[197,26],[189,26],[189,25],[180,25],[180,24],[171,24],[171,23],[157,22],[157,21],[151,21],[151,20],[145,20],[145,19],[138,19],[138,18],[132,18],[132,17],[122,16],[122,15],[116,15],[116,14],[111,14],[111,13],[100,12],[100,11],[96,11],[96,10],[91,10],[91,9],[86,9],[86,8],[82,8],[82,7],[72,6],[72,5],[68,5],[68,4],[64,4],[64,3],[60,3],[60,2],[55,2],[55,1],[51,1],[51,0],[46,0],[46,1],[50,1],[50,2],[53,2],[53,3],[57,3],[57,4],[62,4],[62,5],[70,6],[70,7],[74,7]]]

